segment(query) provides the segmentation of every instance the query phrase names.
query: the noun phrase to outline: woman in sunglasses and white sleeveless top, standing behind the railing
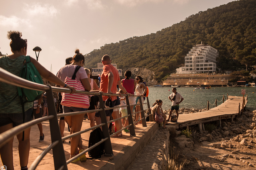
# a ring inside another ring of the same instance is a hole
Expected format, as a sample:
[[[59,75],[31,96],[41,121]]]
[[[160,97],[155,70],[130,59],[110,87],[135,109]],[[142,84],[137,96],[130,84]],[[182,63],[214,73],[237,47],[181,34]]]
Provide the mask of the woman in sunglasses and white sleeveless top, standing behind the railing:
[[[143,79],[141,78],[141,76],[137,76],[135,77],[135,81],[136,81],[136,87],[135,87],[135,92],[136,92],[136,96],[144,96],[144,94],[147,92],[147,88],[145,86],[145,84],[143,84]],[[139,101],[139,98],[141,98],[142,100],[142,103],[144,103],[144,99],[143,97],[137,97],[136,99],[136,104],[140,104],[140,101]],[[139,112],[140,111],[140,106],[136,106],[136,112]],[[134,122],[137,122],[139,120],[139,115],[140,115],[140,118],[141,117],[141,113],[137,113],[136,116],[135,116],[135,121]],[[142,124],[142,121],[138,122],[139,124]],[[135,124],[137,125],[137,124]]]

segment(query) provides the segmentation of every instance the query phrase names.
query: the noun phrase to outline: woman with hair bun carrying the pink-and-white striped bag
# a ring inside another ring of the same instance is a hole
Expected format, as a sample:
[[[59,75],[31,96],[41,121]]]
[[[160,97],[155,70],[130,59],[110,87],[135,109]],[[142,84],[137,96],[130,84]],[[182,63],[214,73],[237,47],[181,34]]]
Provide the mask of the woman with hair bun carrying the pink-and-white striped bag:
[[[62,67],[59,72],[57,73],[57,77],[59,77],[61,80],[65,81],[66,77],[72,77],[76,67],[81,66],[79,70],[76,73],[76,79],[77,81],[81,81],[85,91],[91,90],[91,85],[88,80],[88,76],[86,71],[84,70],[84,56],[79,52],[79,49],[75,50],[75,55],[73,56],[72,63],[65,65]],[[63,98],[62,98],[63,101]],[[86,108],[78,108],[78,107],[68,107],[63,106],[63,113],[70,113],[70,112],[81,112],[86,111]],[[72,133],[78,132],[81,130],[83,119],[85,114],[79,114],[79,115],[73,115],[73,116],[66,116],[66,120],[68,122],[69,127],[72,129]],[[70,140],[70,158],[74,157],[76,153],[80,153],[84,150],[84,147],[82,145],[82,138],[81,135],[77,135],[74,137],[71,137]],[[79,148],[79,151],[77,150]],[[80,156],[79,158],[75,159],[72,162],[76,161],[86,161],[85,154]]]

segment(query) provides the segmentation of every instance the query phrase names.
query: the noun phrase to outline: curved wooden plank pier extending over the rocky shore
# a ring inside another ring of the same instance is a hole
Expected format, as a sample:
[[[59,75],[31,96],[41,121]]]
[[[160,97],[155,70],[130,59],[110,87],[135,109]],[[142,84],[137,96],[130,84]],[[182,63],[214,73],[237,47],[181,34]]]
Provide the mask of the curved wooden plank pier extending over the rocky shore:
[[[247,100],[244,99],[244,107],[246,106]],[[228,99],[221,105],[214,107],[210,110],[197,113],[179,114],[178,123],[170,123],[175,128],[182,128],[191,125],[199,125],[201,127],[203,123],[211,121],[219,121],[221,126],[222,119],[231,119],[240,117],[240,113],[243,110],[243,96],[228,96]]]

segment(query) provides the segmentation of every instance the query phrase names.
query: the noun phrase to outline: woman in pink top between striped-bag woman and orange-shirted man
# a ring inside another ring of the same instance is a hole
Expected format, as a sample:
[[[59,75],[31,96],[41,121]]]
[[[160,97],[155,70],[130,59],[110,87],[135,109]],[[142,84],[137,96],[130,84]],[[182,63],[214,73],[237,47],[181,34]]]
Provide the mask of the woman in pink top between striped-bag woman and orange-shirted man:
[[[88,80],[91,85],[91,91],[96,90],[98,92],[100,90],[100,88],[98,87],[97,83],[92,78],[90,78],[91,71],[88,68],[85,68],[85,71],[87,73]],[[94,91],[94,92],[96,92],[96,91]],[[95,95],[90,95],[90,97],[91,97],[91,102],[90,102],[90,107],[88,108],[88,110],[95,110],[97,107],[97,102],[99,101],[99,97],[95,96]],[[95,126],[95,121],[94,121],[95,113],[96,112],[88,113],[88,118],[90,120],[91,127]]]

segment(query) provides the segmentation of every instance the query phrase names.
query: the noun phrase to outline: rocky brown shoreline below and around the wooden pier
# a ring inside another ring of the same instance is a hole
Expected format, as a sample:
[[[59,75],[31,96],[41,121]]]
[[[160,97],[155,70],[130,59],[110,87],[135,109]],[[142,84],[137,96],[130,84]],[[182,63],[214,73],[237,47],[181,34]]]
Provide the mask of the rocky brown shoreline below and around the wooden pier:
[[[179,113],[202,111],[206,109],[182,108]],[[164,113],[168,114],[169,110],[164,110]],[[184,170],[255,169],[256,110],[246,110],[234,121],[224,119],[221,127],[217,121],[204,125],[205,130],[202,133],[196,125],[189,126],[186,135],[184,135],[186,128],[175,129],[172,125],[167,126],[167,129],[159,128],[130,168],[166,169],[168,160],[164,155],[167,154],[166,148],[169,148],[170,158],[174,154],[178,155],[176,164],[184,163],[182,168]],[[168,132],[169,142],[164,142]],[[166,146],[167,143],[169,147]],[[143,161],[145,158],[148,160],[147,163]]]

